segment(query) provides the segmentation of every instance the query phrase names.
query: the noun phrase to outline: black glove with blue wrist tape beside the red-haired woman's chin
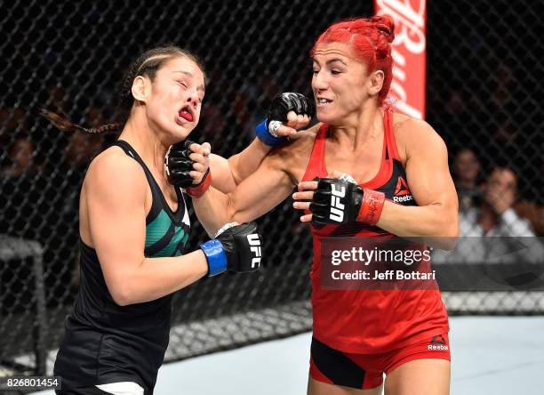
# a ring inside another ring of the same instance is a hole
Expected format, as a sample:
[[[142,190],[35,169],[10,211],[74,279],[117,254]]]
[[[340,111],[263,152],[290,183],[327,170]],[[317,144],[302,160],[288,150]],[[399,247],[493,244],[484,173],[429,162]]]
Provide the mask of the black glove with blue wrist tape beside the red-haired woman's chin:
[[[270,103],[268,117],[255,129],[259,140],[271,147],[287,141],[287,137],[279,136],[276,131],[281,125],[287,123],[289,111],[294,111],[297,115],[316,116],[316,106],[313,100],[300,93],[282,93]]]

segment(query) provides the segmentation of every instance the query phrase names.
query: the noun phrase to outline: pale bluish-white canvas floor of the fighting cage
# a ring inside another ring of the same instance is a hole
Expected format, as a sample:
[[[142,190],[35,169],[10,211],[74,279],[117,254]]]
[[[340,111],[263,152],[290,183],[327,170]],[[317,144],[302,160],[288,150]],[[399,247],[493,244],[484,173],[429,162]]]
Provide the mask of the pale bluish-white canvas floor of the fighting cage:
[[[450,326],[452,395],[542,393],[544,317],[453,317]],[[304,333],[165,364],[155,394],[304,394],[310,340]]]

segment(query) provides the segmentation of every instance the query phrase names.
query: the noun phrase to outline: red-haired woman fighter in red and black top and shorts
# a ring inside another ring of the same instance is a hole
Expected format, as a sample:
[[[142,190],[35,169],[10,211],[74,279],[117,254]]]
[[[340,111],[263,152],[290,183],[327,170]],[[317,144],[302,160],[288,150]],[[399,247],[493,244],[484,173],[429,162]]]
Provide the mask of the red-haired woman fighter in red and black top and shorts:
[[[435,238],[452,248],[458,235],[444,141],[425,121],[384,104],[393,32],[387,16],[327,28],[311,52],[320,123],[272,149],[230,193],[201,188],[193,196],[213,234],[222,223],[267,213],[299,188],[293,206],[305,210],[301,221],[314,236],[312,395],[380,394],[383,374],[386,394],[449,392],[448,318],[436,287],[331,290],[321,282],[323,236]],[[270,117],[265,129],[261,140],[281,142]],[[205,173],[207,161],[196,161]]]

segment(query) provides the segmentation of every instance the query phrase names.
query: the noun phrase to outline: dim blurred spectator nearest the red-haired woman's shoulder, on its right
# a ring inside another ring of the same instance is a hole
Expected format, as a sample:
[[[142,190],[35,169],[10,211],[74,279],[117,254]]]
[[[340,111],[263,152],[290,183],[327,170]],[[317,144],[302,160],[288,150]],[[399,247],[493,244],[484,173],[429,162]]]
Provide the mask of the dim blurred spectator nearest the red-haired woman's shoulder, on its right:
[[[480,195],[478,177],[480,161],[472,149],[461,149],[453,159],[453,181],[459,197],[459,210],[466,213],[475,206],[475,199]]]

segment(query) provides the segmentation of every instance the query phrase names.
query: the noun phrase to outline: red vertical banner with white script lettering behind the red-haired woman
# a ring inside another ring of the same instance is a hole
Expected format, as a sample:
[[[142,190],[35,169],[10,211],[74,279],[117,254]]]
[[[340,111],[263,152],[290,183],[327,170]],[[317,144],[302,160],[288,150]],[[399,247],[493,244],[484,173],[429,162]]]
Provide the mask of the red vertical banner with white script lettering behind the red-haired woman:
[[[425,117],[426,0],[375,0],[377,15],[395,20],[389,96],[409,117]]]

